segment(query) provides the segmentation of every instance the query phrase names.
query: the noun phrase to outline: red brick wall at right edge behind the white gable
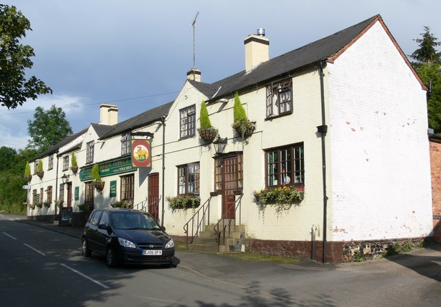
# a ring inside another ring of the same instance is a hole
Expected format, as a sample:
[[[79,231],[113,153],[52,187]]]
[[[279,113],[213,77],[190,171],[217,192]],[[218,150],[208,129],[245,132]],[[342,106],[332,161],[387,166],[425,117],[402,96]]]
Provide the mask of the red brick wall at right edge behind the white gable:
[[[433,238],[441,242],[441,140],[430,140]]]

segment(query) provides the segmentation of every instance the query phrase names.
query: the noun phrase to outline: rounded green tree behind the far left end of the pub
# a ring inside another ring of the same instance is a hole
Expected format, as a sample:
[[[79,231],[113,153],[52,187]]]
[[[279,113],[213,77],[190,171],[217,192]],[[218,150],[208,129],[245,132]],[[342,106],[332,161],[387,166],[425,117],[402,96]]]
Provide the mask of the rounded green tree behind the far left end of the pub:
[[[72,128],[63,109],[52,105],[48,111],[35,108],[34,120],[28,120],[28,133],[31,139],[26,148],[41,153],[72,134]]]

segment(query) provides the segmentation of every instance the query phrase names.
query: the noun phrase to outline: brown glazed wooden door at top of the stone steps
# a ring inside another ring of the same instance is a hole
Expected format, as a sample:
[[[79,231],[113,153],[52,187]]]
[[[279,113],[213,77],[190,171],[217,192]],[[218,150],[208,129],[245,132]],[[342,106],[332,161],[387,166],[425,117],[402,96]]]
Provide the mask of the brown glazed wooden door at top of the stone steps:
[[[223,191],[222,215],[223,218],[236,218],[236,194],[242,191],[243,171],[242,155],[223,158]]]

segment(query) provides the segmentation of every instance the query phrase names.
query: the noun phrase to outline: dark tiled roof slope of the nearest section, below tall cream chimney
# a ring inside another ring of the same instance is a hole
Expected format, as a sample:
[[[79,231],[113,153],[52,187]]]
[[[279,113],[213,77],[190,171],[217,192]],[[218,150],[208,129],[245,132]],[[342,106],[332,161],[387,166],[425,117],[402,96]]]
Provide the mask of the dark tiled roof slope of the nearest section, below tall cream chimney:
[[[229,76],[223,80],[213,83],[212,86],[220,90],[216,94],[216,98],[222,96],[232,96],[234,92],[247,87],[256,86],[259,83],[269,81],[271,78],[281,78],[287,76],[290,72],[301,70],[309,65],[314,65],[322,59],[328,59],[337,54],[353,39],[356,39],[367,26],[375,19],[381,18],[380,15],[371,17],[365,21],[357,23],[345,30],[336,32],[330,36],[309,43],[291,52],[277,56],[265,63],[261,63],[251,72],[245,73],[245,70]]]

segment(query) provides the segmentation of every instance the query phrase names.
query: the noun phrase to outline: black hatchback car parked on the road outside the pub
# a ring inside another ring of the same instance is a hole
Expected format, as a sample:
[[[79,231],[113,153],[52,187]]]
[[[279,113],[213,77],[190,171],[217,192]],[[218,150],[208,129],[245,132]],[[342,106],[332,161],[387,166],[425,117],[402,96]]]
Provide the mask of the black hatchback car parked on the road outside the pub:
[[[133,209],[95,209],[82,239],[83,256],[105,255],[107,266],[122,263],[172,265],[174,242],[165,227],[147,212]]]

